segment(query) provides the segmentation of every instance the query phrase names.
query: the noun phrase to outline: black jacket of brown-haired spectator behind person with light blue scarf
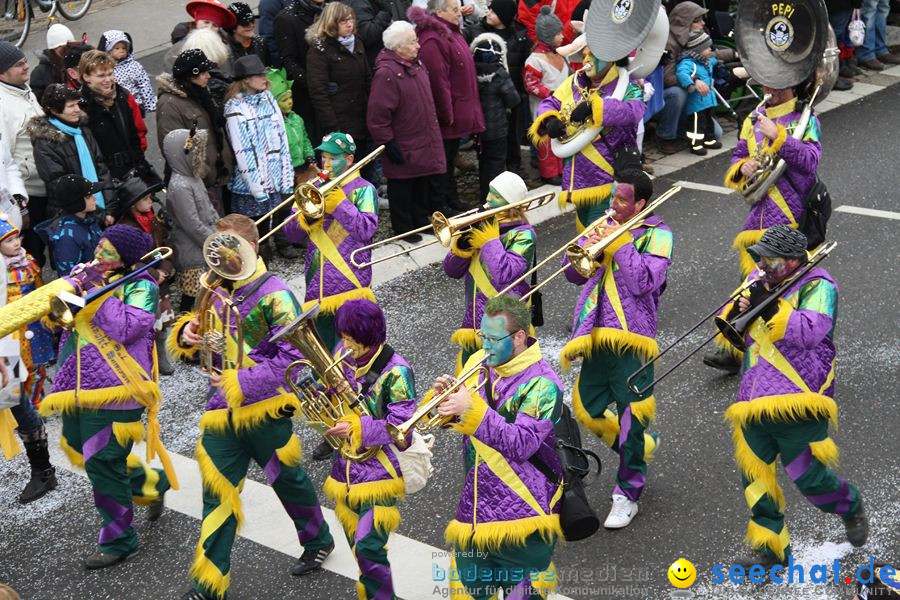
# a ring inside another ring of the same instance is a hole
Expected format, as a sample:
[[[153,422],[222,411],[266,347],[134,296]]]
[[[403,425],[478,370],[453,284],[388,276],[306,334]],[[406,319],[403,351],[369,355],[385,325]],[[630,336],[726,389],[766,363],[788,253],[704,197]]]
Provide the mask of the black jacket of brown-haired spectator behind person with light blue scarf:
[[[103,161],[113,179],[123,179],[125,174],[136,169],[141,176],[150,172],[151,167],[141,150],[141,139],[134,113],[128,102],[129,94],[116,85],[116,97],[111,108],[96,101],[88,86],[81,87],[81,109],[88,116],[88,129],[100,145]]]

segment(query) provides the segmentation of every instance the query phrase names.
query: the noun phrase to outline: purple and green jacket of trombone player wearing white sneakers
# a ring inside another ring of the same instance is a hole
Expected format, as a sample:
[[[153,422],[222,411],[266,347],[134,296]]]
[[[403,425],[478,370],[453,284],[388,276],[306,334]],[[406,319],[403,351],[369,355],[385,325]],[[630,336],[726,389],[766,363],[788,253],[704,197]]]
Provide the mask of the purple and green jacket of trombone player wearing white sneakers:
[[[579,243],[584,245],[585,239]],[[666,288],[672,246],[672,230],[660,217],[651,216],[607,248],[603,265],[590,279],[571,266],[565,270],[566,279],[583,288],[575,305],[572,336],[563,348],[564,365],[598,343],[631,348],[645,356],[656,354],[656,312]],[[568,264],[567,257],[563,264]],[[623,320],[607,290],[610,269]]]

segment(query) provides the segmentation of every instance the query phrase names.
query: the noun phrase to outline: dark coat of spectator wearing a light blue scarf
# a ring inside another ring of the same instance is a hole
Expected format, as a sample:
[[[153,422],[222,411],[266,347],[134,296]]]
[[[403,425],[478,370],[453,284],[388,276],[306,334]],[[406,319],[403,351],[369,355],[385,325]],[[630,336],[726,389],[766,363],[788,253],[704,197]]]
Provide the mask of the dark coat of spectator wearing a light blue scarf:
[[[51,204],[58,205],[57,180],[63,175],[81,175],[81,163],[78,160],[75,138],[51,125],[46,117],[33,117],[28,122],[27,131],[31,137],[31,146],[34,148],[35,167],[47,185],[47,196]],[[116,214],[118,200],[112,177],[109,169],[106,168],[106,163],[103,162],[103,151],[87,126],[86,118],[82,120],[81,131],[87,142],[88,150],[94,158],[97,179],[103,185],[101,191],[106,202],[106,212]]]

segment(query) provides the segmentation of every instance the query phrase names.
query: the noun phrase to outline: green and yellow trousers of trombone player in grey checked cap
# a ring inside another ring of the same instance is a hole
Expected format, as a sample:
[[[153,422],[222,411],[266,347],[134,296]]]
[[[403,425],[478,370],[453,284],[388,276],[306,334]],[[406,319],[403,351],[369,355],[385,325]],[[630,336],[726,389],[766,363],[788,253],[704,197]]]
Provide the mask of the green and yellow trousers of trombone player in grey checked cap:
[[[819,510],[842,517],[859,510],[859,490],[828,467],[837,459],[837,447],[828,437],[827,420],[764,420],[742,427],[735,442],[751,513],[747,538],[755,549],[778,559],[791,554],[784,495],[775,476],[779,454],[788,477]]]

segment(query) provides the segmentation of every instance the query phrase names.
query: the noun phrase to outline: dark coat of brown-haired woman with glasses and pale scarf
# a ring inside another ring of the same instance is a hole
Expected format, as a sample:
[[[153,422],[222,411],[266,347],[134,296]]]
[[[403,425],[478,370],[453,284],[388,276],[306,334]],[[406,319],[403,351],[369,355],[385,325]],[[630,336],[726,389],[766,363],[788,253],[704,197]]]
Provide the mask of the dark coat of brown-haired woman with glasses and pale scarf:
[[[372,71],[359,37],[353,52],[335,38],[313,42],[306,55],[306,76],[319,133],[342,131],[357,143],[368,139],[366,102]]]

